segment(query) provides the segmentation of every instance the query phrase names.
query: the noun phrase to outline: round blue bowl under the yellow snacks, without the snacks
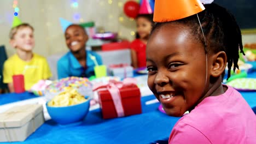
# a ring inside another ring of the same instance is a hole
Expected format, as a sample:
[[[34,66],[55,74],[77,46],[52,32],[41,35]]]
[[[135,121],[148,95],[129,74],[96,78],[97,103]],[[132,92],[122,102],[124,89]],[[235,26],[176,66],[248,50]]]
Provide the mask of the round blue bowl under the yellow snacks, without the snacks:
[[[48,106],[49,101],[46,103],[46,109],[55,122],[65,125],[83,121],[89,111],[90,99],[83,103],[71,106]]]

